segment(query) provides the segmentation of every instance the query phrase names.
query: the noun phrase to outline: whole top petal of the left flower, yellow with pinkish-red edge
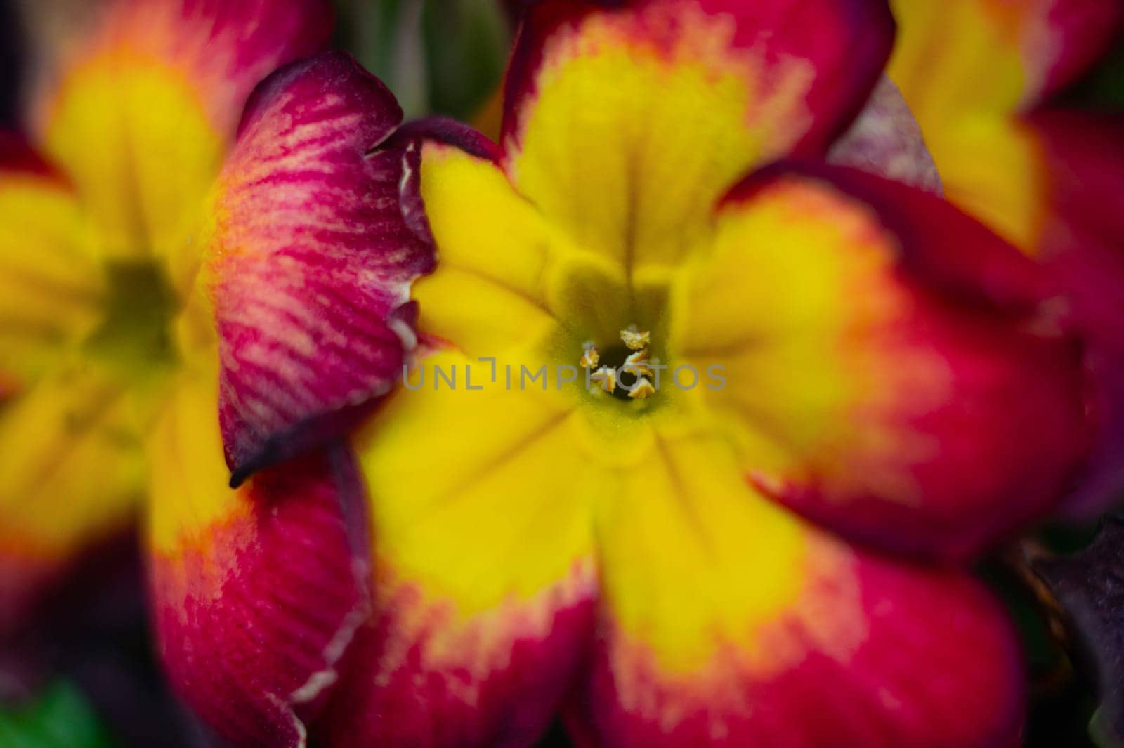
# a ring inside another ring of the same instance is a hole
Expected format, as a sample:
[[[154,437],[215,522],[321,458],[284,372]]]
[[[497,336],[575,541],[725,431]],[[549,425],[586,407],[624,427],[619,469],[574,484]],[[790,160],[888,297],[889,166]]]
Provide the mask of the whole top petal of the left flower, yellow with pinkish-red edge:
[[[103,0],[71,16],[72,27],[40,40],[47,73],[35,86],[33,129],[73,179],[101,252],[164,258],[182,285],[198,266],[191,237],[246,97],[327,42],[329,4]]]

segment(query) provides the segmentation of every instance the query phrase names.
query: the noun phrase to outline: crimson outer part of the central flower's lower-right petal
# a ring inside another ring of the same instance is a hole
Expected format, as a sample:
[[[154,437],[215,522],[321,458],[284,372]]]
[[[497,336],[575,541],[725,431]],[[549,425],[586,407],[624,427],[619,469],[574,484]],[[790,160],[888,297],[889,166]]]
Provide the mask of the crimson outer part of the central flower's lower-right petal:
[[[967,575],[863,551],[845,573],[859,584],[815,590],[823,606],[805,620],[788,610],[776,633],[747,632],[761,637],[753,655],[744,642],[723,640],[711,660],[686,673],[661,668],[643,640],[606,615],[589,679],[570,710],[574,742],[1015,748],[1025,674],[996,601]],[[846,602],[850,595],[855,600]],[[837,627],[835,638],[825,635],[830,627]],[[841,635],[853,642],[841,646]]]

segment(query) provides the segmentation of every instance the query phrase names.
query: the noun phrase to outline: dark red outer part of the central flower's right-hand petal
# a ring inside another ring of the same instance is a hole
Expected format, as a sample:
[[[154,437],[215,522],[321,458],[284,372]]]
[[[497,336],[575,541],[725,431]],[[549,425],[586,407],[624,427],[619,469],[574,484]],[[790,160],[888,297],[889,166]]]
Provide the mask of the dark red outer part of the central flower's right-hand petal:
[[[722,210],[749,209],[786,184],[809,181],[877,217],[876,231],[890,237],[888,277],[910,299],[840,346],[894,352],[881,361],[855,358],[851,370],[882,382],[879,396],[894,404],[880,413],[856,408],[841,422],[895,425],[925,435],[927,446],[910,454],[899,441],[868,449],[847,438],[830,449],[831,458],[781,480],[752,477],[773,499],[853,540],[970,560],[1053,512],[1087,455],[1089,380],[1061,289],[951,203],[854,168],[779,163],[734,188]],[[810,211],[803,220],[813,220]],[[906,352],[922,350],[916,371],[926,374],[890,385],[910,371]],[[918,382],[933,373],[939,377],[931,381],[942,384],[926,399]],[[907,477],[874,481],[883,469]]]

